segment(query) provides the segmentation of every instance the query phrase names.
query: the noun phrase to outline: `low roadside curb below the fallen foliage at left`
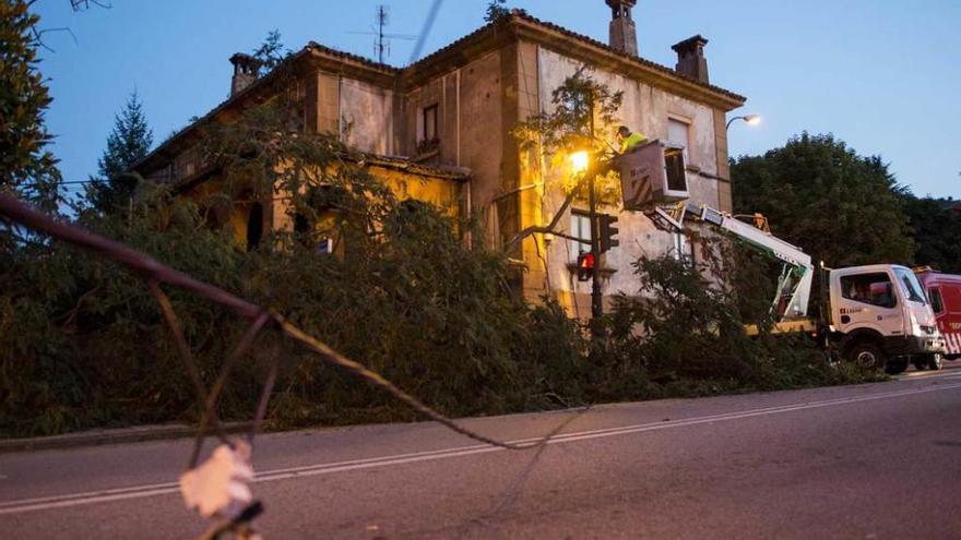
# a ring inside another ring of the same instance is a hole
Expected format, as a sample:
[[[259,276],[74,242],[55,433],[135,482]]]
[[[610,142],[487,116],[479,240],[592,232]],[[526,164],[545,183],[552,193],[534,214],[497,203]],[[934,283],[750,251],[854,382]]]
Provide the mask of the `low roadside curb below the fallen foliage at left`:
[[[250,429],[249,422],[228,422],[221,425],[222,433],[240,433]],[[186,424],[145,425],[116,430],[94,430],[66,435],[0,439],[0,454],[46,449],[82,448],[107,444],[129,444],[147,441],[187,439],[197,435],[197,428]]]

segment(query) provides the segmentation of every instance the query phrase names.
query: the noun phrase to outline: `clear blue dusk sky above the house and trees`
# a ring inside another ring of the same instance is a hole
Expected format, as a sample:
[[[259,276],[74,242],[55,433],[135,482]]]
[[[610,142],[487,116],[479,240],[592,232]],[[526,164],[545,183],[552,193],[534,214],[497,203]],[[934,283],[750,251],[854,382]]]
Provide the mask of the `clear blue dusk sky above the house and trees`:
[[[105,0],[102,0],[102,2]],[[276,28],[298,49],[309,40],[371,56],[378,4],[388,32],[418,34],[432,0],[110,0],[73,13],[69,0],[39,0],[55,52],[41,71],[55,98],[47,113],[54,152],[69,181],[85,180],[134,88],[157,142],[205,113],[229,91],[227,58]],[[486,0],[446,0],[425,51],[483,24]],[[640,0],[641,56],[674,65],[671,45],[710,39],[711,82],[748,96],[740,112],[764,118],[732,127],[732,155],[759,154],[802,131],[834,133],[880,155],[916,194],[961,197],[961,62],[958,0]],[[510,0],[547,20],[607,39],[603,0]],[[404,64],[412,41],[392,44]]]

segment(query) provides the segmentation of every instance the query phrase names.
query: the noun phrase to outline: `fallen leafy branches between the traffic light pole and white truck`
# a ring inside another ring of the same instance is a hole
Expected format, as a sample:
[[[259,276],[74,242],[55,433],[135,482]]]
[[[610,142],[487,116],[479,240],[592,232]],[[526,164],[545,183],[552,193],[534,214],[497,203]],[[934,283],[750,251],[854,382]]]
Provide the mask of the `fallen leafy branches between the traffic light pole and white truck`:
[[[739,305],[770,307],[769,291],[756,287],[738,295],[734,287],[757,275],[757,268],[746,259],[722,273],[722,261],[729,259],[720,255],[729,245],[707,245],[715,254],[700,265],[669,255],[644,256],[634,264],[639,289],[618,297],[606,317],[610,338],[594,350],[595,357],[614,362],[605,369],[613,365],[624,374],[603,377],[609,386],[598,387],[601,398],[785,389],[879,376],[830,364],[808,336],[762,332],[749,338],[744,323],[750,320]]]

